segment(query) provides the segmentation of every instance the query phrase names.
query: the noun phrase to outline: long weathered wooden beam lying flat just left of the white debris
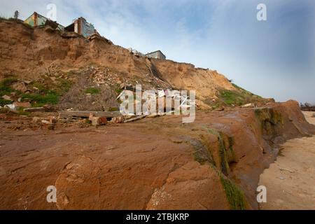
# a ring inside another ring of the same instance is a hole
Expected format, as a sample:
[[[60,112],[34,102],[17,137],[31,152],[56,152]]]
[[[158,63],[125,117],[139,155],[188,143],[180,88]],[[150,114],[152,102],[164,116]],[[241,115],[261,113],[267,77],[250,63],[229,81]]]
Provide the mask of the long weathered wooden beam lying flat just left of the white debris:
[[[92,113],[96,117],[116,118],[122,116],[120,112],[111,111],[59,111],[59,118],[88,118]]]

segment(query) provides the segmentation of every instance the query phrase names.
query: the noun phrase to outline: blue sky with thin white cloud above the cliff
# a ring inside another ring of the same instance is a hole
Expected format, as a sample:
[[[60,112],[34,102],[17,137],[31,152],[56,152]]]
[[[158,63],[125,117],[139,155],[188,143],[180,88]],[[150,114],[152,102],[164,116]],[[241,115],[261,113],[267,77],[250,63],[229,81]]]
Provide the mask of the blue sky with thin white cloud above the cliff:
[[[314,0],[1,0],[0,16],[46,16],[49,3],[61,25],[83,16],[116,45],[162,50],[262,97],[315,104]],[[259,3],[267,20],[257,20]]]

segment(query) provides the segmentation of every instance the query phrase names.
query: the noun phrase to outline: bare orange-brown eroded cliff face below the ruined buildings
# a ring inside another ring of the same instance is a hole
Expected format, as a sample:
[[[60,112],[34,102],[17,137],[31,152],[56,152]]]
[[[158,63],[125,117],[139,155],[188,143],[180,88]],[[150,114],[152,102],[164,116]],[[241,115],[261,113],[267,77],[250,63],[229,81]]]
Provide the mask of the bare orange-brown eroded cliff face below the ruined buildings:
[[[138,57],[105,38],[88,41],[50,27],[27,27],[20,22],[0,20],[0,78],[15,76],[37,80],[55,73],[81,73],[87,66],[111,69],[127,84],[196,90],[198,101],[217,99],[219,90],[235,90],[217,71],[197,69],[193,64]],[[155,80],[160,81],[156,83]],[[209,108],[209,105],[208,105]]]

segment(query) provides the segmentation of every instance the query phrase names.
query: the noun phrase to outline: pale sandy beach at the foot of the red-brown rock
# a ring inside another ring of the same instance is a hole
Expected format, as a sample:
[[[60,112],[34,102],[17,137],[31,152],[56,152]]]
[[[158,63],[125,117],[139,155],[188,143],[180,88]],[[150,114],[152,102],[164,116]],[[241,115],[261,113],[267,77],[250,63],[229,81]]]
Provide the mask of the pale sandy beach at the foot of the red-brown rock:
[[[304,112],[315,124],[314,112]],[[282,145],[276,161],[260,176],[267,203],[260,209],[315,209],[315,136],[291,139]]]

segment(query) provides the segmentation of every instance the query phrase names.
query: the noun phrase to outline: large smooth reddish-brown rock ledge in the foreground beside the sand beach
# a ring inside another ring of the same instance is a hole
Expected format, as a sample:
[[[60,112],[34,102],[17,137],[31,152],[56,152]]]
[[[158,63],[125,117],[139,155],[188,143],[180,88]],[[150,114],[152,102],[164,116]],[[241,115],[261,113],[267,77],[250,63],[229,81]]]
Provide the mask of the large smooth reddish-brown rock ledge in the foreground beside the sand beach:
[[[283,120],[268,134],[261,125],[271,111]],[[234,139],[226,176],[244,192],[248,209],[257,209],[259,176],[277,153],[272,141],[314,133],[296,102],[270,105],[264,113],[197,113],[195,123],[185,125],[181,116],[162,116],[97,129],[56,124],[55,130],[20,131],[8,129],[16,118],[2,117],[0,208],[230,209],[218,177],[218,137],[209,131],[217,130],[227,147],[227,138]],[[46,201],[48,186],[57,188],[57,203]]]

